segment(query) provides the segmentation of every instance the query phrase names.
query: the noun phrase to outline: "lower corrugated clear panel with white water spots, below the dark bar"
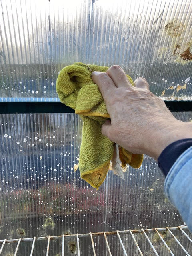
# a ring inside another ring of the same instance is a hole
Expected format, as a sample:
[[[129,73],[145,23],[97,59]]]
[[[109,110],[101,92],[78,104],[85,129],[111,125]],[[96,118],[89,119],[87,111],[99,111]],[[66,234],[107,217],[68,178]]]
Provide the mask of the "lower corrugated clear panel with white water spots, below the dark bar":
[[[185,122],[192,119],[191,112],[174,116]],[[162,172],[148,156],[140,169],[127,170],[125,181],[109,171],[98,191],[80,179],[74,167],[82,121],[75,114],[1,114],[0,120],[0,239],[184,224],[164,196]],[[182,237],[178,236],[180,241]],[[104,243],[103,239],[94,241]],[[137,255],[132,238],[122,239],[130,255]],[[150,239],[157,238],[151,235]],[[116,252],[113,237],[108,240],[111,251]],[[46,243],[37,242],[34,255],[46,252]],[[149,245],[143,243],[142,250],[150,253]],[[50,255],[60,255],[61,241],[50,244]],[[66,242],[66,255],[74,255],[70,252],[72,244]],[[12,256],[16,244],[5,246],[7,255]],[[21,243],[22,255],[30,255],[31,246],[32,242],[28,246]],[[90,240],[83,238],[80,246],[82,255],[92,255]],[[98,255],[103,255],[101,248],[96,246]],[[164,252],[164,248],[160,250]]]

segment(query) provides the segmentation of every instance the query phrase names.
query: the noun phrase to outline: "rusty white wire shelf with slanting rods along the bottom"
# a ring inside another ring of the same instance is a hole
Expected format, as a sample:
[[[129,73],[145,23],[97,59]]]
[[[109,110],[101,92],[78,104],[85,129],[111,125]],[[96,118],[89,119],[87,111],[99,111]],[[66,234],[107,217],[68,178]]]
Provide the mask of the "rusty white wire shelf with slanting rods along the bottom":
[[[34,250],[34,246],[35,246],[35,242],[39,241],[39,240],[47,240],[47,250],[46,250],[46,256],[49,255],[49,249],[50,249],[50,240],[56,240],[56,239],[60,239],[62,241],[62,256],[65,256],[66,254],[64,254],[64,241],[65,239],[68,238],[76,238],[76,242],[77,242],[77,255],[80,256],[80,239],[81,237],[90,237],[90,242],[92,244],[92,250],[93,250],[93,255],[96,256],[96,252],[95,252],[95,248],[94,248],[94,241],[93,241],[93,236],[104,236],[105,242],[106,242],[106,247],[108,250],[108,253],[110,256],[112,256],[112,253],[110,251],[110,244],[108,243],[107,240],[107,236],[110,235],[116,235],[117,239],[119,240],[121,246],[122,246],[122,250],[124,252],[124,256],[128,256],[127,252],[126,252],[126,248],[122,242],[122,239],[120,237],[120,234],[130,234],[135,246],[138,249],[138,252],[140,253],[141,256],[144,256],[144,252],[141,251],[138,243],[136,242],[136,239],[134,238],[134,234],[136,233],[143,233],[144,236],[146,237],[147,241],[150,244],[150,247],[152,248],[152,250],[154,251],[154,253],[159,256],[158,252],[155,250],[152,242],[150,241],[150,239],[147,236],[148,232],[156,232],[156,234],[158,234],[158,236],[160,237],[161,241],[163,242],[163,244],[166,246],[166,248],[168,249],[168,251],[170,252],[170,254],[172,256],[174,256],[174,253],[172,252],[172,250],[169,248],[168,244],[166,244],[165,240],[162,238],[162,236],[160,235],[159,232],[162,231],[167,231],[171,234],[171,236],[174,238],[175,242],[182,248],[182,250],[186,253],[187,256],[190,256],[190,254],[186,251],[186,249],[182,246],[182,244],[178,241],[178,239],[176,238],[176,236],[174,236],[174,234],[172,233],[173,230],[180,230],[182,232],[182,234],[184,234],[184,236],[186,236],[186,238],[192,242],[192,239],[186,234],[186,232],[184,230],[188,230],[187,226],[178,226],[178,227],[172,227],[172,228],[151,228],[151,229],[139,229],[139,230],[124,230],[124,231],[112,231],[112,232],[98,232],[98,233],[86,233],[86,234],[72,234],[72,235],[60,235],[60,236],[44,236],[44,237],[34,237],[34,238],[19,238],[19,239],[4,239],[4,240],[0,240],[0,243],[2,244],[1,248],[0,248],[0,255],[2,254],[4,245],[6,243],[17,243],[16,246],[16,250],[14,252],[14,256],[17,255],[18,252],[18,248],[21,242],[33,242],[32,243],[32,248],[31,248],[31,252],[30,252],[30,256],[33,255],[33,250]]]

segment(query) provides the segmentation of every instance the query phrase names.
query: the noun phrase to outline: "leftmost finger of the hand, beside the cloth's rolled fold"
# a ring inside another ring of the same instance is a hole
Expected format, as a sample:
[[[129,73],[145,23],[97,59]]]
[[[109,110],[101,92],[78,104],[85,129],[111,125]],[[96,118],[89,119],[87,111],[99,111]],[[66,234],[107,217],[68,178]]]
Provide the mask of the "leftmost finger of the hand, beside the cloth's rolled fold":
[[[111,90],[116,88],[113,80],[107,73],[94,71],[92,72],[92,80],[98,85],[104,100],[106,100]]]

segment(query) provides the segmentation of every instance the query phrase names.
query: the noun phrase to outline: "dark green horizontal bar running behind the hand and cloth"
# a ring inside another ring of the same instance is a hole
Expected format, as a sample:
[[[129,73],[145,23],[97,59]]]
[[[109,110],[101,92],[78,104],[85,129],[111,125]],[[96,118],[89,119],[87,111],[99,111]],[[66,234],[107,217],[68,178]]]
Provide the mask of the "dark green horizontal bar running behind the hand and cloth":
[[[191,100],[164,100],[170,111],[192,111]],[[61,102],[0,102],[0,114],[19,113],[74,113]]]

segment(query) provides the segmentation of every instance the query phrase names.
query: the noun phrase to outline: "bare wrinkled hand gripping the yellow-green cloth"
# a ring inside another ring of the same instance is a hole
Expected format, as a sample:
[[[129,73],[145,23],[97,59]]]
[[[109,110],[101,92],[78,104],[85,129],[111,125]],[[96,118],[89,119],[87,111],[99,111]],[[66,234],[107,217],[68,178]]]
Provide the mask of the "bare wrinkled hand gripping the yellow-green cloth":
[[[163,100],[150,92],[145,78],[137,78],[134,87],[120,66],[112,66],[106,73],[93,72],[92,80],[111,118],[102,134],[126,150],[157,159],[170,143],[192,138],[192,124],[174,118]]]

